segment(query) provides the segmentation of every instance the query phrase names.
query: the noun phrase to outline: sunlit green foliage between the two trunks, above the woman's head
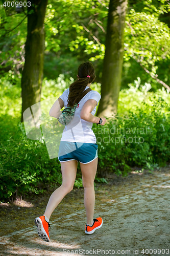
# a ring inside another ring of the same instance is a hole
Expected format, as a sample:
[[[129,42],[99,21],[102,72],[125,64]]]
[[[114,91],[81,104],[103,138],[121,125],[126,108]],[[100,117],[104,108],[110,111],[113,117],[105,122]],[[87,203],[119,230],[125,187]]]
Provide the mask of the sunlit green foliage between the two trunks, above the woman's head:
[[[45,76],[55,79],[64,73],[76,78],[80,62],[103,59],[108,4],[109,0],[48,2]]]

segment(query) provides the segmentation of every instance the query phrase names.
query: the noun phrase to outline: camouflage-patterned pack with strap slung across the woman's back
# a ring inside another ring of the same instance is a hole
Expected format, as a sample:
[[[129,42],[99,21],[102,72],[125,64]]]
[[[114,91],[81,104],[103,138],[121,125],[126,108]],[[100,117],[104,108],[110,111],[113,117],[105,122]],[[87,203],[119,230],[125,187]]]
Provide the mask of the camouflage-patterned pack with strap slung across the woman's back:
[[[84,91],[83,95],[82,95],[82,98],[88,93],[90,92],[91,89],[88,88]],[[81,98],[81,99],[82,99]],[[81,100],[80,99],[80,100]],[[76,103],[74,106],[70,107],[70,106],[67,106],[67,108],[65,108],[61,115],[59,116],[58,118],[58,121],[63,124],[63,125],[67,125],[71,120],[72,118],[74,118],[74,115],[75,115],[75,111],[76,111],[76,108],[78,106],[78,103]]]

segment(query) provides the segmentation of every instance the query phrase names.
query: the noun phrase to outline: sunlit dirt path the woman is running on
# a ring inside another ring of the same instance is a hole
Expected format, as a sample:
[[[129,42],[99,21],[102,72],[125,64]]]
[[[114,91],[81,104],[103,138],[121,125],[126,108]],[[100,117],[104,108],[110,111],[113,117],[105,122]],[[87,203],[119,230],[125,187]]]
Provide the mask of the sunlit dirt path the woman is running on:
[[[51,191],[0,205],[0,255],[170,255],[170,166],[154,172],[110,175],[95,186],[94,217],[102,228],[85,234],[83,189],[69,193],[51,217],[49,243],[39,239],[34,219]]]

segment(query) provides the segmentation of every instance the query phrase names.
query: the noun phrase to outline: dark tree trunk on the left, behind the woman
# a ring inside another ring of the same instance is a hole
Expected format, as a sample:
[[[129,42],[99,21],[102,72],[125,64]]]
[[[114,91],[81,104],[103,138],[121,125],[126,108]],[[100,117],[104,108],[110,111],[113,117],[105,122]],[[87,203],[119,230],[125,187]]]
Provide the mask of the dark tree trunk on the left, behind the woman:
[[[28,7],[25,65],[21,79],[21,122],[23,122],[23,112],[31,105],[39,102],[41,97],[46,5],[47,0],[34,0],[31,1],[31,7]]]

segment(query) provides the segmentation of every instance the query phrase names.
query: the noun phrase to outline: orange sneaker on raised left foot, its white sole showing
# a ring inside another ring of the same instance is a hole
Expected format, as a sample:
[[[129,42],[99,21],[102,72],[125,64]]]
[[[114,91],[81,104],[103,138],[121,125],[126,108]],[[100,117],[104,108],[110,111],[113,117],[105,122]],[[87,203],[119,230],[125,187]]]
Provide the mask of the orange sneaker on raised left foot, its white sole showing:
[[[37,226],[38,236],[45,242],[50,242],[50,236],[48,232],[48,227],[50,224],[45,220],[45,216],[40,216],[35,218],[35,225]]]

